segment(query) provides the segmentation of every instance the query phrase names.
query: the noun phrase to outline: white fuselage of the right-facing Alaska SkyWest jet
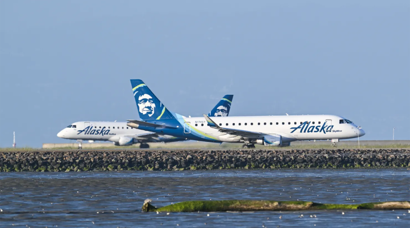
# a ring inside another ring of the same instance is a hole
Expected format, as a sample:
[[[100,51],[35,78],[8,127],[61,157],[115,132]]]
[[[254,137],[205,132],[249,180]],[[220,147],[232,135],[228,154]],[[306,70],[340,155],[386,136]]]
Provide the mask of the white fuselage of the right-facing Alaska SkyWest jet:
[[[243,137],[223,133],[218,129],[209,127],[204,117],[185,117],[184,120],[186,122],[185,128],[188,128],[189,125],[191,130],[194,130],[193,134],[200,132],[200,134],[223,142],[243,141]],[[365,134],[353,122],[335,115],[228,116],[212,117],[212,120],[222,128],[281,135],[282,142],[348,139]],[[191,133],[187,135],[189,134]]]

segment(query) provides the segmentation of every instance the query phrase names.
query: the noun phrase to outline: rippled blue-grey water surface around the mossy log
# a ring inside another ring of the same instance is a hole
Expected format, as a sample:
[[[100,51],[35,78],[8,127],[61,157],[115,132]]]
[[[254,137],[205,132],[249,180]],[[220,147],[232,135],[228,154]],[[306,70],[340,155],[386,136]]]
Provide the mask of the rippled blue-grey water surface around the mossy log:
[[[410,227],[407,210],[343,211],[344,215],[342,211],[167,215],[142,213],[147,198],[153,199],[155,206],[223,199],[410,200],[410,171],[0,173],[0,227]]]

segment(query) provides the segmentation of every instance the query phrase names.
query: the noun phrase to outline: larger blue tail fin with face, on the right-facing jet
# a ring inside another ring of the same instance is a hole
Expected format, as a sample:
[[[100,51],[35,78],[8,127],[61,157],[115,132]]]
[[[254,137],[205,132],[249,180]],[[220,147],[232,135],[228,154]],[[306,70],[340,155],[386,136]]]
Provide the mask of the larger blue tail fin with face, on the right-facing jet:
[[[142,120],[171,119],[174,115],[151,92],[144,81],[131,79],[132,92],[137,103],[138,114]]]

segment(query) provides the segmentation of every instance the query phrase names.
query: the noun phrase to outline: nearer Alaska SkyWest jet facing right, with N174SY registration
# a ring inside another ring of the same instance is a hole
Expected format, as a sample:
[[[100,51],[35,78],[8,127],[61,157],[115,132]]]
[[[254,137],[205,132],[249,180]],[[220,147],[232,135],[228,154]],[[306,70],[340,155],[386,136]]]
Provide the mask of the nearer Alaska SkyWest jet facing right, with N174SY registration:
[[[336,115],[185,117],[169,111],[142,80],[132,79],[131,85],[143,121],[127,120],[127,125],[158,134],[207,142],[244,143],[244,149],[255,148],[255,144],[288,146],[296,140],[337,142],[365,134],[352,121]]]

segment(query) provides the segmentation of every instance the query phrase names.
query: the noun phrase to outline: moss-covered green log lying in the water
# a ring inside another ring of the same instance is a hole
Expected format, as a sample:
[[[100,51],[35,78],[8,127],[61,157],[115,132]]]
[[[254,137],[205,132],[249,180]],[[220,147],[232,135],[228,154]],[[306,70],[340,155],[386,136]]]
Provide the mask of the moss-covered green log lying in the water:
[[[215,200],[186,201],[155,208],[150,202],[142,206],[144,212],[226,212],[226,211],[305,211],[305,210],[400,210],[410,209],[409,201],[362,204],[326,204],[308,201],[271,200]]]

